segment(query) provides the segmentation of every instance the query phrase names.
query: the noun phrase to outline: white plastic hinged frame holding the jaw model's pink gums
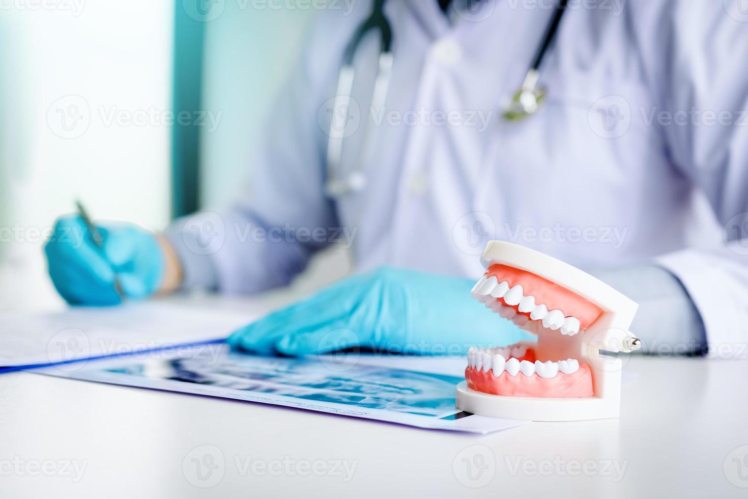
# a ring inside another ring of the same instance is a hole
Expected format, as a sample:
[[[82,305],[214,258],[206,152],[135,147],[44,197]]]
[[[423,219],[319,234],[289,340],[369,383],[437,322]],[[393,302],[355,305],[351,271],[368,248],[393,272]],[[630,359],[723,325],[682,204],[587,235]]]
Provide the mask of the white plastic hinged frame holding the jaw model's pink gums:
[[[602,313],[588,328],[572,337],[551,331],[537,321],[524,326],[537,334],[534,346],[539,361],[574,358],[587,364],[592,373],[592,394],[588,398],[505,397],[457,388],[457,407],[462,411],[504,419],[533,421],[579,421],[618,417],[621,399],[621,370],[618,358],[602,355],[600,350],[631,352],[628,331],[637,304],[592,275],[574,266],[510,242],[491,241],[483,251],[481,263],[488,269],[494,264],[522,269],[553,281],[577,295],[592,301]]]

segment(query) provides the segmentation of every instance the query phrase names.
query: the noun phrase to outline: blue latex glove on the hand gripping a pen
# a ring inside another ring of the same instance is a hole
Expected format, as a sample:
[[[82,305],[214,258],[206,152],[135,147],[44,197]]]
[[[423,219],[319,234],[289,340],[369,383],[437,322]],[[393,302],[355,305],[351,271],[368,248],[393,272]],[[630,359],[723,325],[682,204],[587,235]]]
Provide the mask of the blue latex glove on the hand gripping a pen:
[[[117,276],[127,298],[156,293],[164,274],[164,256],[156,236],[129,224],[97,225],[102,248],[93,242],[82,218],[59,218],[44,252],[49,276],[58,293],[70,304],[120,303],[114,289]]]

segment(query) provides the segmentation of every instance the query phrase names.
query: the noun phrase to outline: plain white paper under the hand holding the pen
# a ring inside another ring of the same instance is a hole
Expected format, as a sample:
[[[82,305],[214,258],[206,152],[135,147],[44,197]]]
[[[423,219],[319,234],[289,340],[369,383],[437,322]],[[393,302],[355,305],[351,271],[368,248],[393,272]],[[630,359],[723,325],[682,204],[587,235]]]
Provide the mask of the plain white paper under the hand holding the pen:
[[[0,367],[121,355],[227,337],[253,313],[161,301],[75,307],[54,313],[0,313]]]

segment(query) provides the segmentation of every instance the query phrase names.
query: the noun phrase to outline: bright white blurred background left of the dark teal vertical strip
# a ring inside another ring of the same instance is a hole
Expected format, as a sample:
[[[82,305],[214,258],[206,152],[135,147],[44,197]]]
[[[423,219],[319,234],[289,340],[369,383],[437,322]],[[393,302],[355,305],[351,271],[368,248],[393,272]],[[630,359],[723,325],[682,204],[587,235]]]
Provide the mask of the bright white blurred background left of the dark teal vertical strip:
[[[114,116],[168,109],[173,10],[149,0],[4,3],[2,307],[57,300],[41,248],[75,198],[98,218],[168,221],[168,127]]]

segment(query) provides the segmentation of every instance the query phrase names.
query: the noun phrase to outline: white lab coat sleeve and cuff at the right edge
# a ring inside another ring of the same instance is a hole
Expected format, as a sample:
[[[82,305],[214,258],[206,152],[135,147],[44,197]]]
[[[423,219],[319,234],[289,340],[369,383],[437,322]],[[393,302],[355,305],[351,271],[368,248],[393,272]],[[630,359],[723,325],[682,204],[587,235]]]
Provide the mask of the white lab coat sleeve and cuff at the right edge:
[[[680,116],[680,124],[659,124],[669,154],[708,199],[723,227],[723,244],[695,246],[657,260],[681,280],[696,304],[709,355],[744,358],[748,74],[742,61],[748,61],[748,16],[735,19],[740,1],[671,1],[659,7],[652,5],[660,2],[647,2],[655,15],[640,20],[649,23],[642,52],[649,54],[644,57],[661,110]]]

